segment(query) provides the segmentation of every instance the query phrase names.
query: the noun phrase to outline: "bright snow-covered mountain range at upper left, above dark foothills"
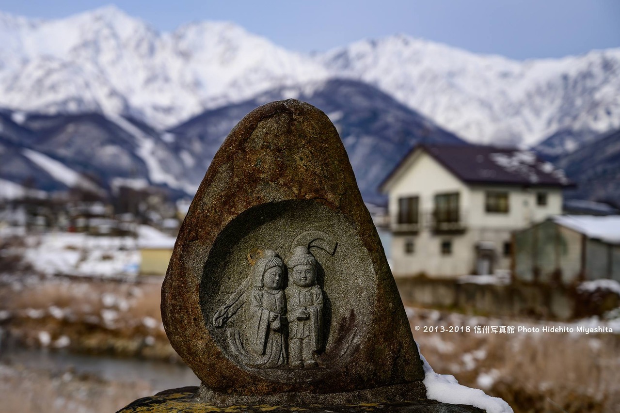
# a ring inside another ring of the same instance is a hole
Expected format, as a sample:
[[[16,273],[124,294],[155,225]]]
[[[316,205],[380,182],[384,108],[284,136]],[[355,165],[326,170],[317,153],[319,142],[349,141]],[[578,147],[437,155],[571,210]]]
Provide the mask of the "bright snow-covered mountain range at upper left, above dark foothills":
[[[113,6],[61,20],[0,14],[0,39],[1,106],[100,110],[157,126],[326,73],[233,24],[159,33]]]

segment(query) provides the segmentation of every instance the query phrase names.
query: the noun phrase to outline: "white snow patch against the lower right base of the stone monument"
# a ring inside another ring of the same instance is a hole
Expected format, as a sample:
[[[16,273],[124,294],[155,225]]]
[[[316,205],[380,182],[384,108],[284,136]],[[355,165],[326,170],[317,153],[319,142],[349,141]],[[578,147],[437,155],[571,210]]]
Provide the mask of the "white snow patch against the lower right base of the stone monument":
[[[435,373],[421,352],[420,358],[424,369],[424,385],[429,399],[443,403],[469,404],[487,413],[513,413],[508,403],[499,397],[491,397],[480,389],[462,386],[452,375]]]

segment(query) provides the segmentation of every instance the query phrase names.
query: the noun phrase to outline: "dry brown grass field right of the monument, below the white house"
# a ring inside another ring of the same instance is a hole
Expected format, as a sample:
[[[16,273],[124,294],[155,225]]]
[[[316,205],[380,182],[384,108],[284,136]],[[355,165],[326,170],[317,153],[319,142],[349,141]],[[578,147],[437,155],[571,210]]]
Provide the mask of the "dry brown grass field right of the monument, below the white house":
[[[467,323],[463,316],[415,313],[412,326]],[[477,324],[495,322],[479,319]],[[517,413],[620,411],[618,335],[414,331],[414,337],[436,372],[502,397]],[[494,380],[485,383],[485,375]]]

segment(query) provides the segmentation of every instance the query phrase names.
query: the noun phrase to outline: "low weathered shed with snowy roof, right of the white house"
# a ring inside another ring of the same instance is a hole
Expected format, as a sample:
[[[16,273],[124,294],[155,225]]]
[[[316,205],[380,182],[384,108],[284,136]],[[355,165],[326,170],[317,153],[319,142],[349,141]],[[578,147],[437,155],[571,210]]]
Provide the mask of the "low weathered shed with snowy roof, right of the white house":
[[[620,281],[620,215],[561,215],[515,234],[521,282]]]

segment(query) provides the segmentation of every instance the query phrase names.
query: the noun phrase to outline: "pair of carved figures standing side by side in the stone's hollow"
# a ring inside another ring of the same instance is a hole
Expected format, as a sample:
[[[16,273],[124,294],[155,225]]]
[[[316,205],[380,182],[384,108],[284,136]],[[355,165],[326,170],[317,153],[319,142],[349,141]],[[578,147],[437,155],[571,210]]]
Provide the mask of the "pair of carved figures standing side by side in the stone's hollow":
[[[248,365],[318,366],[315,355],[323,345],[323,290],[317,283],[317,266],[307,246],[294,247],[286,267],[275,251],[265,250],[254,262],[248,280],[216,311],[213,324],[222,327],[245,306],[245,340],[237,329],[231,329],[229,342]]]

